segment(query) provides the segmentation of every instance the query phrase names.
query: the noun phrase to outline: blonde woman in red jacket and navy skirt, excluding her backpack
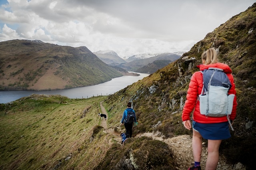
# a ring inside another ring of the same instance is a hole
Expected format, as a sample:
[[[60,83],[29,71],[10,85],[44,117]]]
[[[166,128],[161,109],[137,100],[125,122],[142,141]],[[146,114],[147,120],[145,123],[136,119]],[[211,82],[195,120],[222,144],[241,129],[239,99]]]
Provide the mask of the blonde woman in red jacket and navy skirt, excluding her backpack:
[[[232,113],[229,116],[231,122],[236,117],[236,90],[232,70],[224,63],[219,63],[215,48],[210,48],[202,53],[202,65],[197,67],[200,71],[210,67],[223,69],[224,73],[228,76],[232,87],[229,89],[228,94],[234,94]],[[209,117],[200,114],[200,106],[198,95],[201,94],[203,88],[203,75],[200,71],[195,72],[188,87],[186,102],[182,111],[182,121],[184,127],[188,130],[193,128],[192,147],[194,154],[194,166],[188,170],[201,170],[200,160],[202,153],[202,138],[208,140],[208,157],[206,161],[206,170],[216,170],[219,160],[219,146],[223,139],[230,138],[228,119],[224,117]],[[192,126],[190,123],[190,113],[194,110]]]

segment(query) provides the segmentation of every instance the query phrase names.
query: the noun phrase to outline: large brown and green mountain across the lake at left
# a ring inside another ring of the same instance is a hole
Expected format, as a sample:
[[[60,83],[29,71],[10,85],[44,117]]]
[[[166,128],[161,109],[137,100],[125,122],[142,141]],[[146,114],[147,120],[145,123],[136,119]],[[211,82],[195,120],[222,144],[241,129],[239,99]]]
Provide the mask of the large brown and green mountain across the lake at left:
[[[120,77],[86,47],[40,40],[0,42],[0,89],[48,90],[95,85]]]

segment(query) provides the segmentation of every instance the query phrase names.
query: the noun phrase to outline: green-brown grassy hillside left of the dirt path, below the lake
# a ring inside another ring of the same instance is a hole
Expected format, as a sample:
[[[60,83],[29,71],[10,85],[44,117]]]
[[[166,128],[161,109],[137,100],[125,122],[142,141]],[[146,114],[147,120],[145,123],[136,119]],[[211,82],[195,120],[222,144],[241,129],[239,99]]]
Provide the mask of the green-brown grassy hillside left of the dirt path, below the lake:
[[[98,126],[99,102],[104,98],[32,95],[5,109],[1,105],[0,169],[96,166],[100,160],[95,158],[106,153],[103,145],[111,138]],[[97,140],[99,132],[104,140]],[[96,142],[90,140],[92,137]]]

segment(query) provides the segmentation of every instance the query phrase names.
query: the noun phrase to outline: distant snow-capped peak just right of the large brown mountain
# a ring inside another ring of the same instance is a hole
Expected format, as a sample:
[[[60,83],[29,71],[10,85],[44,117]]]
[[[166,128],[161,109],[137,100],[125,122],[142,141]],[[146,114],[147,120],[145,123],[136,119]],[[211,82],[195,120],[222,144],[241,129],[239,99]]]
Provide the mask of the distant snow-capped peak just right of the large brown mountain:
[[[106,50],[106,51],[96,51],[94,52],[97,57],[102,60],[106,64],[111,63],[126,63],[124,59],[118,56],[118,54],[115,51]]]

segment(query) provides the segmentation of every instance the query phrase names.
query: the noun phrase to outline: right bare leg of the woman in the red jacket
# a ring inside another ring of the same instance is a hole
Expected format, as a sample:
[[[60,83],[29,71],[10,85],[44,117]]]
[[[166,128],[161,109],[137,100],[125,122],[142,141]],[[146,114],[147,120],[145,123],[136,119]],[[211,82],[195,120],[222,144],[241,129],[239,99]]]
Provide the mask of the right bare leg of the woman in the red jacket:
[[[206,170],[216,170],[219,161],[219,147],[221,140],[208,140],[208,156]]]

